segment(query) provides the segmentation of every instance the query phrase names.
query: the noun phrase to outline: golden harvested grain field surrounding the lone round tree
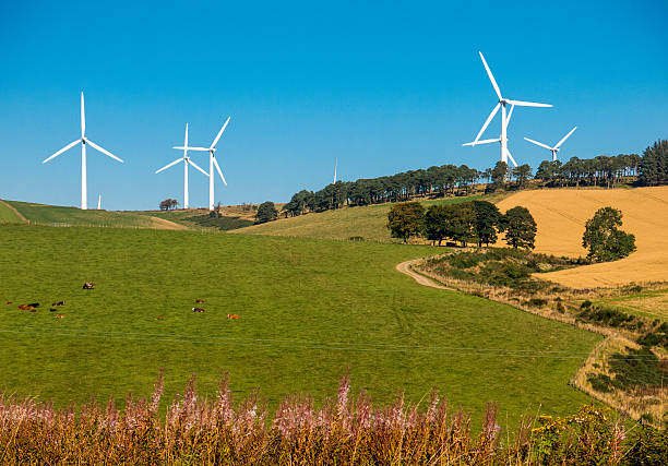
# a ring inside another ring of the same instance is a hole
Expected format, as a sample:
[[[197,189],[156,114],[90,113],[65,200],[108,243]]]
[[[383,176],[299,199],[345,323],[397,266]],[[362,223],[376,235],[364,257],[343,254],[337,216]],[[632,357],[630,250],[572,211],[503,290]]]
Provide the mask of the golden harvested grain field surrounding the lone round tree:
[[[585,256],[585,222],[605,206],[622,211],[622,229],[635,235],[637,251],[621,261],[541,274],[573,288],[668,280],[668,187],[635,189],[550,189],[521,191],[498,203],[505,212],[527,207],[538,224],[536,251]]]

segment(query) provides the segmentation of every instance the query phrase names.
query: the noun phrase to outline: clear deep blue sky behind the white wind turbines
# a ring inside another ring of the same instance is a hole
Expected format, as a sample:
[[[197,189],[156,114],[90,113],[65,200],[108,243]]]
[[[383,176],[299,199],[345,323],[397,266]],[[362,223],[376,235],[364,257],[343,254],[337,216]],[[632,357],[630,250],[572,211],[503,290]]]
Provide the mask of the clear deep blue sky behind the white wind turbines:
[[[515,111],[520,164],[549,156],[523,136],[556,143],[574,124],[561,157],[668,138],[665,0],[465,3],[2,1],[0,198],[79,204],[80,150],[41,160],[77,136],[82,89],[86,135],[126,160],[90,150],[91,206],[182,200],[182,167],[154,171],[186,122],[208,145],[228,115],[224,204],[320,189],[335,157],[345,180],[486,168],[498,144],[462,147],[496,104],[478,50],[505,96],[554,105]],[[206,179],[190,175],[204,206]]]

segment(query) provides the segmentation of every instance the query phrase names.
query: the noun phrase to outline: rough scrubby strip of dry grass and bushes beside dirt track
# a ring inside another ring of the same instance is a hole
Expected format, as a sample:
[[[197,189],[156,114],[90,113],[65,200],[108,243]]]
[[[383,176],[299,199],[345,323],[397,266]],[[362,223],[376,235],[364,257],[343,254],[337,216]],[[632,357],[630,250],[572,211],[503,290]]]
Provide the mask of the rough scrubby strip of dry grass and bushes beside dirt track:
[[[573,383],[634,419],[667,422],[668,323],[592,302],[639,294],[643,286],[578,290],[537,278],[576,263],[568,258],[493,248],[428,258],[416,268],[452,288],[613,337],[617,345],[599,345]],[[663,286],[649,285],[649,289]]]

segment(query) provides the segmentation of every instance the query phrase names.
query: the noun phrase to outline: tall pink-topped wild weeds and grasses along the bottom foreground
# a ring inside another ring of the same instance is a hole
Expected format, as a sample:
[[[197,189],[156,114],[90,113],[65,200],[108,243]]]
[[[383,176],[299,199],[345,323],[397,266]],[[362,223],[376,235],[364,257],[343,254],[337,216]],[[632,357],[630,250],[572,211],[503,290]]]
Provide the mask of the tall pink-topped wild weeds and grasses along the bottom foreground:
[[[0,398],[0,462],[76,464],[644,464],[668,461],[668,431],[627,430],[606,408],[582,406],[563,418],[525,417],[513,432],[488,404],[481,426],[432,391],[422,406],[398,395],[373,405],[350,396],[348,377],[317,407],[310,396],[282,401],[273,418],[257,394],[232,403],[227,377],[211,401],[195,392],[160,413],[162,377],[151,399],[131,395],[58,410]]]

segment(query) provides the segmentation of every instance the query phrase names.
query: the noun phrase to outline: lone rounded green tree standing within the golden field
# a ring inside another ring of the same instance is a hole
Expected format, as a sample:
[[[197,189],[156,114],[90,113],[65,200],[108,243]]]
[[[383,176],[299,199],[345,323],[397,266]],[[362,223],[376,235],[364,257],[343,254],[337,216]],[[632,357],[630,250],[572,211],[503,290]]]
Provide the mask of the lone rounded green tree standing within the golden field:
[[[635,236],[619,229],[622,213],[601,207],[585,224],[582,246],[589,250],[587,258],[599,262],[616,261],[635,251]]]

